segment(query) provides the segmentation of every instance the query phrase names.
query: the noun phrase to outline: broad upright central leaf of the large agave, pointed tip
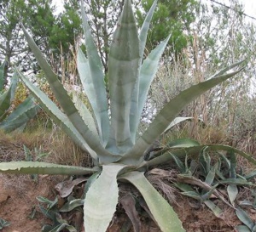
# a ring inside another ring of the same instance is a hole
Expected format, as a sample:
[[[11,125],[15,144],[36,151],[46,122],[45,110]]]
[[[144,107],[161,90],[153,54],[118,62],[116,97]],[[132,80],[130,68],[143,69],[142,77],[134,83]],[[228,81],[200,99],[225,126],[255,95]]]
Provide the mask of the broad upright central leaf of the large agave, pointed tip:
[[[110,47],[108,76],[111,110],[111,132],[108,149],[125,153],[131,149],[130,110],[131,96],[139,70],[139,39],[131,8],[125,6]],[[115,149],[115,147],[117,149]]]

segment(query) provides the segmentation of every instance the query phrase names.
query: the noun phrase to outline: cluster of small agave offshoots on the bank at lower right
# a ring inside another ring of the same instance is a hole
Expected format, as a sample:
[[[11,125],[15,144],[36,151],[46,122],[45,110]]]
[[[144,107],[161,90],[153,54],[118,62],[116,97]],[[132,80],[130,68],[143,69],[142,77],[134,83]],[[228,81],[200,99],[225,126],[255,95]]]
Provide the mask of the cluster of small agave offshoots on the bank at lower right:
[[[218,145],[212,146],[213,150],[216,146]],[[199,147],[195,147],[196,150]],[[220,150],[220,147],[218,147],[218,150]],[[255,207],[255,205],[251,201],[237,201],[239,193],[237,186],[247,185],[254,187],[255,184],[248,182],[247,178],[236,172],[237,161],[234,150],[226,151],[227,154],[224,155],[222,152],[214,150],[215,156],[218,157],[215,161],[212,161],[209,154],[212,150],[209,150],[208,146],[201,148],[200,155],[195,160],[191,160],[191,157],[189,157],[188,161],[188,156],[186,156],[185,161],[182,161],[170,153],[177,164],[178,170],[181,172],[181,174],[177,175],[177,182],[174,185],[182,191],[183,195],[194,198],[199,201],[199,204],[204,203],[218,218],[223,218],[224,211],[215,204],[214,200],[222,201],[225,205],[233,208],[241,222],[246,224],[237,227],[239,232],[254,231],[254,223],[240,206]],[[223,185],[226,187],[227,197],[224,197],[223,193],[219,191],[219,187],[222,186],[221,189],[223,189]],[[214,197],[212,197],[213,195]]]

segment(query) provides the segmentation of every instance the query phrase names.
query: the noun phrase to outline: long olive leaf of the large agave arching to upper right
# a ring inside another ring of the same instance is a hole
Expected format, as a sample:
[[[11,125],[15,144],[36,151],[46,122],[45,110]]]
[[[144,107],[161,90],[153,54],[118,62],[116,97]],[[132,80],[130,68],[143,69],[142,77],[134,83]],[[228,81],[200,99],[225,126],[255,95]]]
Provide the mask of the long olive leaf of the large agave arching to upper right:
[[[241,62],[236,63],[236,65],[240,64]],[[139,163],[142,161],[143,152],[147,150],[154,140],[165,131],[166,127],[169,126],[177,114],[183,110],[186,105],[210,88],[213,88],[219,83],[229,79],[231,76],[236,75],[239,71],[241,71],[241,69],[223,76],[214,77],[213,79],[196,84],[184,90],[182,93],[179,93],[175,98],[170,100],[162,110],[160,110],[160,113],[155,116],[154,121],[149,125],[147,131],[143,133],[143,136],[140,139],[137,140],[134,147],[125,154],[122,161],[128,161],[129,163]]]

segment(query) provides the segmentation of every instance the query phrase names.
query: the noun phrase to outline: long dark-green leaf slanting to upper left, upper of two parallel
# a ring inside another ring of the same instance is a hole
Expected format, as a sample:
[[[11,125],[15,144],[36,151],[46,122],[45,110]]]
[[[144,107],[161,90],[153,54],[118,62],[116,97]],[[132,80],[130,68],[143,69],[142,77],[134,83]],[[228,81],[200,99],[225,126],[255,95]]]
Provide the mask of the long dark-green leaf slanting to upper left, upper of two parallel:
[[[100,140],[93,136],[93,134],[90,132],[83,118],[79,115],[79,111],[75,108],[73,101],[67,94],[67,91],[65,90],[65,88],[63,88],[58,77],[51,70],[49,64],[47,63],[46,59],[44,59],[44,56],[39,50],[37,44],[33,41],[32,37],[29,36],[23,25],[22,29],[24,31],[26,41],[28,42],[30,48],[32,49],[32,52],[35,55],[36,59],[38,60],[40,67],[45,73],[47,81],[49,82],[49,86],[55,94],[55,98],[61,104],[61,107],[64,110],[65,114],[69,118],[70,122],[72,122],[73,127],[75,127],[81,134],[81,136],[84,138],[84,140],[86,140],[91,150],[95,150],[99,154],[106,154],[107,152],[106,150],[103,149]],[[111,156],[110,153],[109,156]]]

